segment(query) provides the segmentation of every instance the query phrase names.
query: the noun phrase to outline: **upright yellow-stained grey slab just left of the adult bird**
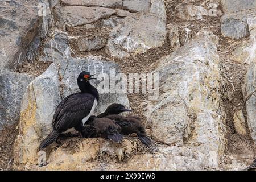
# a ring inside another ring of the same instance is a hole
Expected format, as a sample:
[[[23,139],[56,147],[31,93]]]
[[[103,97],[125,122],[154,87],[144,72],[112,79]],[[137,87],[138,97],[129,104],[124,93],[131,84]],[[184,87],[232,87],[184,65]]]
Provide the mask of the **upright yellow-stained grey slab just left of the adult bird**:
[[[33,155],[38,154],[39,140],[51,131],[52,117],[61,101],[59,85],[55,63],[28,85],[20,107],[19,135],[15,140],[17,163],[37,160]]]

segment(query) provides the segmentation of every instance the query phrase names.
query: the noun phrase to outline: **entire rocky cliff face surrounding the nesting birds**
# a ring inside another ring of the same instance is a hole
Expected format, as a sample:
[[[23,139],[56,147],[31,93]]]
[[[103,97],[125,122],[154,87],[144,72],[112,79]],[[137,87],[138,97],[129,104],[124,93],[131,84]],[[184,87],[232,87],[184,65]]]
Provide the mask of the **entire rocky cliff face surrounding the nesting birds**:
[[[0,132],[18,122],[13,169],[243,169],[255,158],[255,1],[2,4],[1,15],[12,13],[0,17]],[[155,147],[131,136],[69,138],[38,151],[81,70],[98,75],[95,114],[113,102],[131,107]],[[117,92],[130,73],[157,75],[153,96]]]

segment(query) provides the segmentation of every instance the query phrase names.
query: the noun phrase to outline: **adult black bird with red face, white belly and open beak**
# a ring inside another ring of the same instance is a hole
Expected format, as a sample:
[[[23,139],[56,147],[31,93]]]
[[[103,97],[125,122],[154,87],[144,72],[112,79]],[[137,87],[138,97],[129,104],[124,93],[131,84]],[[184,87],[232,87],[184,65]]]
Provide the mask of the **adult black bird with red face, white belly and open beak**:
[[[40,150],[56,141],[59,135],[67,132],[68,129],[82,130],[82,126],[98,104],[98,91],[89,82],[89,80],[96,79],[92,76],[94,75],[90,75],[89,72],[79,74],[77,85],[81,92],[65,97],[57,106],[52,119],[53,131],[40,144]]]

